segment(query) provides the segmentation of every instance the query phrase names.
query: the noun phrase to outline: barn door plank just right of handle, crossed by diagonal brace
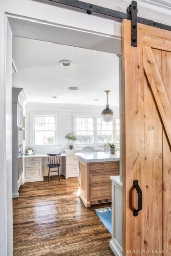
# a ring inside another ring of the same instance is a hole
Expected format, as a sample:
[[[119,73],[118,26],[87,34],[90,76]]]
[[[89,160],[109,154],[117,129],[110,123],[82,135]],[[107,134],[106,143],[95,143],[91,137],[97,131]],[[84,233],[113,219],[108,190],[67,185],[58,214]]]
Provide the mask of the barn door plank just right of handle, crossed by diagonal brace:
[[[161,50],[153,49],[160,74],[162,73]],[[145,250],[162,249],[162,133],[163,128],[147,77],[144,75],[144,226]],[[155,239],[154,239],[155,238]],[[149,255],[151,255],[149,253]],[[153,255],[153,254],[152,254]]]

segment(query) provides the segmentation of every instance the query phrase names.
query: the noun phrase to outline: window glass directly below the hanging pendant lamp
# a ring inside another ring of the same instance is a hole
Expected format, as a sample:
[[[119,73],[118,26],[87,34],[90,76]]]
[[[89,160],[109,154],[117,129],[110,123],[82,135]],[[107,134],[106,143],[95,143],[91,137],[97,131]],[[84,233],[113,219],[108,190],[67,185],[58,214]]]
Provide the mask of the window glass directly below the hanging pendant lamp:
[[[113,143],[113,135],[113,121],[106,123],[97,118],[97,143]]]

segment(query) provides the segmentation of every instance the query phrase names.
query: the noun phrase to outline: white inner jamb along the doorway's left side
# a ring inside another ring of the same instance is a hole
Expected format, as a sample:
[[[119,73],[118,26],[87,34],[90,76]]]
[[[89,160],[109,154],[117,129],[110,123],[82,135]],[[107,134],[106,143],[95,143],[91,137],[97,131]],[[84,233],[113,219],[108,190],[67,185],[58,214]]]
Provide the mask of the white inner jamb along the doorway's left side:
[[[5,187],[0,186],[0,195],[2,196],[2,194],[6,194],[7,197],[7,203],[4,205],[1,205],[0,209],[2,210],[6,210],[7,212],[7,216],[6,216],[6,220],[7,220],[7,241],[12,244],[12,240],[13,240],[13,233],[11,232],[12,230],[12,126],[11,126],[11,105],[12,105],[12,90],[11,90],[11,82],[12,82],[12,32],[10,29],[10,26],[7,22],[7,47],[6,47],[6,54],[7,54],[7,59],[10,59],[10,62],[6,62],[6,73],[5,73],[5,77],[6,77],[6,88],[5,88],[5,92],[6,92],[6,97],[5,97],[5,113],[6,113],[6,184]],[[2,93],[2,92],[1,92]],[[4,95],[3,95],[4,96]],[[2,120],[2,119],[1,119]],[[3,170],[1,170],[1,174],[3,174]],[[3,189],[3,191],[1,191]],[[5,221],[3,218],[1,218],[0,215],[0,220],[1,222],[3,222],[3,225],[5,224]],[[2,223],[1,223],[2,226]],[[1,229],[0,229],[1,230]],[[1,230],[1,235],[4,235],[2,230]],[[5,237],[3,238],[3,240],[5,239]],[[4,244],[7,243],[7,241],[4,241]],[[1,242],[2,239],[0,239],[0,248],[1,247]],[[4,246],[3,244],[3,246]],[[12,255],[12,251],[13,248],[11,246],[7,247],[7,255]],[[2,251],[1,251],[2,254]]]

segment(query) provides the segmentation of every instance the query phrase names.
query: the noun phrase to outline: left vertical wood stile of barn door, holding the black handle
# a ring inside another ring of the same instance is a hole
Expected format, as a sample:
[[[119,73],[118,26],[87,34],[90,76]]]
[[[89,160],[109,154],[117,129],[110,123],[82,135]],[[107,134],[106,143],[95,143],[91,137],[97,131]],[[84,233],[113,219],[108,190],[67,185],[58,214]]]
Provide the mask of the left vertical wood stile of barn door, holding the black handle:
[[[137,193],[133,181],[143,188],[144,164],[144,91],[143,91],[143,30],[139,24],[138,47],[131,47],[131,23],[122,22],[123,81],[123,255],[141,248],[142,229],[137,208]],[[127,111],[129,110],[129,111]],[[141,181],[142,177],[142,181]],[[137,255],[135,253],[132,254]]]

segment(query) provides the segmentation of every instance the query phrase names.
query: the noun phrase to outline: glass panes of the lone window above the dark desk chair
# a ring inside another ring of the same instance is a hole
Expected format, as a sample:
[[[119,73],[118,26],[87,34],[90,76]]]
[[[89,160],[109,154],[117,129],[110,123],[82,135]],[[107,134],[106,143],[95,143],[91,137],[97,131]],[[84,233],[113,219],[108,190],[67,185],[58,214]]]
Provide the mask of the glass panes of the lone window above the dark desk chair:
[[[56,144],[56,117],[34,116],[34,145]]]

